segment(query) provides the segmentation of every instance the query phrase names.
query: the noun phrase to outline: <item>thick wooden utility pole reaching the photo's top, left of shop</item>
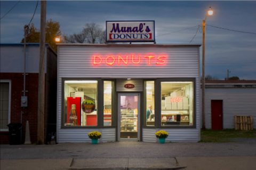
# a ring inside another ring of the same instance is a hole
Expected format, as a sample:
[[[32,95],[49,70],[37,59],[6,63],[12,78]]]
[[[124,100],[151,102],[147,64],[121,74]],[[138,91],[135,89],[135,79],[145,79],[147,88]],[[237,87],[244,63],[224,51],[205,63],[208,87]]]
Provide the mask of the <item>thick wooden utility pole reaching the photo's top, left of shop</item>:
[[[41,1],[39,72],[38,72],[38,107],[37,107],[37,144],[44,144],[45,24],[46,24],[46,1]]]

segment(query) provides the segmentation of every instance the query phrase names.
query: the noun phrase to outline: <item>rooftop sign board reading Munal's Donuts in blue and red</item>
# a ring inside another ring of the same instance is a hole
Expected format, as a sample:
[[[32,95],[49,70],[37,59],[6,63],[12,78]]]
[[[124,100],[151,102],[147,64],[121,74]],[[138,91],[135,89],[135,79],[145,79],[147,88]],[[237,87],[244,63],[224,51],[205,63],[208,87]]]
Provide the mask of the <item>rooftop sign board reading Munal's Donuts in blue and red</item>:
[[[155,42],[155,21],[106,21],[106,42]]]

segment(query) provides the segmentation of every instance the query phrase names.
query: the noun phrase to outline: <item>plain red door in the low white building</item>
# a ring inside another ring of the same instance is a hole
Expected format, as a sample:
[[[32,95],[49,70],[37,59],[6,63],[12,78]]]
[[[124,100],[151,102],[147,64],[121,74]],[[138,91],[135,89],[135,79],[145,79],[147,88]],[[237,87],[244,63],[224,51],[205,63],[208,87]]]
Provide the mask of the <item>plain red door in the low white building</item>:
[[[222,100],[212,100],[212,129],[223,129],[223,114],[222,114]]]

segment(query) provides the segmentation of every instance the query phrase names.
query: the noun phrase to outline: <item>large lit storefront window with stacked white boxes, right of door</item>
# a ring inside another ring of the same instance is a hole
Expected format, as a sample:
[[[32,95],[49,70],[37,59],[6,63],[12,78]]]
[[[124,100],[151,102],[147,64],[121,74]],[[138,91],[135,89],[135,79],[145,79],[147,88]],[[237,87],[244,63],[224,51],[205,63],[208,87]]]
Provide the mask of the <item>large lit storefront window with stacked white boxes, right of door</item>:
[[[193,82],[161,82],[161,125],[193,125]]]

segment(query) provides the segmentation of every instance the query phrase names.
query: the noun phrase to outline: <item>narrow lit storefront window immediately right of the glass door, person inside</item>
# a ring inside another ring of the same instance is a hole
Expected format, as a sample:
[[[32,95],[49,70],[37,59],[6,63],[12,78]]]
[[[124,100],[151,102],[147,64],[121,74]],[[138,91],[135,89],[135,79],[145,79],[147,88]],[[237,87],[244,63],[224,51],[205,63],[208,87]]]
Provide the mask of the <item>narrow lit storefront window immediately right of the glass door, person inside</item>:
[[[148,126],[155,125],[155,82],[146,82],[146,121]]]

